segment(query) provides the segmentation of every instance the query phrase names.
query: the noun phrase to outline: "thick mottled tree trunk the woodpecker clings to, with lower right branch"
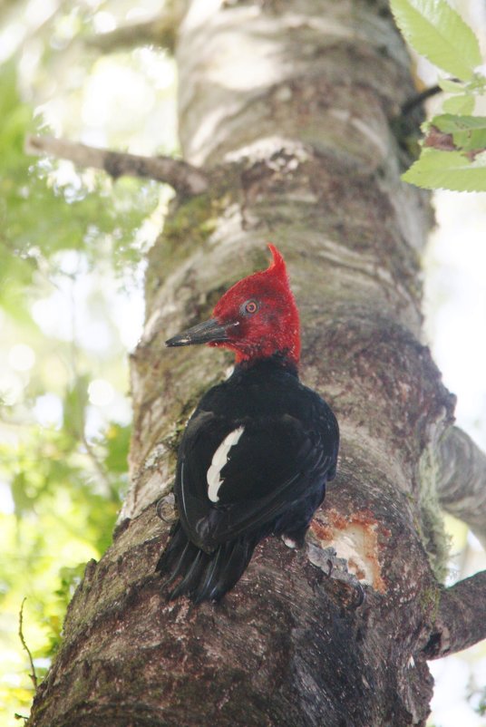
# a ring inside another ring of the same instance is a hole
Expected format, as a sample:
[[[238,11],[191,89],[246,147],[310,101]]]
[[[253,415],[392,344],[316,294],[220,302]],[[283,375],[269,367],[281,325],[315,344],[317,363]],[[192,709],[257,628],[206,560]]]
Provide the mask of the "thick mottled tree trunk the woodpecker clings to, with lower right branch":
[[[432,216],[400,181],[392,123],[414,93],[409,59],[379,0],[193,0],[181,16],[180,139],[209,189],[174,203],[151,250],[131,492],[29,723],[423,725],[426,658],[486,635],[486,577],[441,585],[439,442],[453,397],[420,343]],[[219,605],[168,604],[154,568],[180,431],[231,357],[163,342],[266,267],[267,240],[301,311],[301,378],[340,422],[338,475],[306,548],[267,538]]]

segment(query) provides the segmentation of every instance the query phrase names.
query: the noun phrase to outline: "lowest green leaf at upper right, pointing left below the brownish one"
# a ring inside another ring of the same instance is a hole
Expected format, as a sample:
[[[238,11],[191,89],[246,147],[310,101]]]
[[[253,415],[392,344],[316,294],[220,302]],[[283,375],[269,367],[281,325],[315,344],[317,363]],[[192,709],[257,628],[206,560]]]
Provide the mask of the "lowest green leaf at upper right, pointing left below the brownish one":
[[[470,161],[460,151],[424,149],[402,179],[424,189],[486,192],[486,152]]]

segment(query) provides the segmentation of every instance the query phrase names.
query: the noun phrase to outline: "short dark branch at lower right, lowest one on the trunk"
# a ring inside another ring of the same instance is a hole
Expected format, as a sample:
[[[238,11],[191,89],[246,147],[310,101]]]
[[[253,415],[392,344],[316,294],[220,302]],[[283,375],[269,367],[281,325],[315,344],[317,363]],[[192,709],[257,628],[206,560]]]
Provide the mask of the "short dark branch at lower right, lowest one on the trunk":
[[[462,651],[486,638],[486,570],[442,591],[427,659]]]

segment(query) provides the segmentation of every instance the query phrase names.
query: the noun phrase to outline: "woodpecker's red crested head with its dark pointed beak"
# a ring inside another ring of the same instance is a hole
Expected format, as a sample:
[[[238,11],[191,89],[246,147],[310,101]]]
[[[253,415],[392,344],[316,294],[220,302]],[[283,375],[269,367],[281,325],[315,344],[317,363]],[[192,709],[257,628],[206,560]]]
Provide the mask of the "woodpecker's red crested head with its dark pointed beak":
[[[297,364],[300,355],[299,318],[290,290],[284,258],[268,245],[272,261],[267,270],[244,277],[219,299],[213,317],[168,345],[207,343],[232,349],[237,363],[253,363],[275,354]]]

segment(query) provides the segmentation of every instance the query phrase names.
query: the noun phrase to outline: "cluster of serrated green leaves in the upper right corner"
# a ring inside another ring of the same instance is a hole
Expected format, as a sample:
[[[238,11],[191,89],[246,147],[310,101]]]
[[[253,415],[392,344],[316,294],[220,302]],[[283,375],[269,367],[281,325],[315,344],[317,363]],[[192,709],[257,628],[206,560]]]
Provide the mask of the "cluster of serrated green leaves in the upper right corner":
[[[405,40],[452,78],[439,85],[442,113],[423,125],[420,158],[403,179],[426,189],[486,191],[486,117],[472,116],[486,90],[477,36],[447,0],[391,0]]]

